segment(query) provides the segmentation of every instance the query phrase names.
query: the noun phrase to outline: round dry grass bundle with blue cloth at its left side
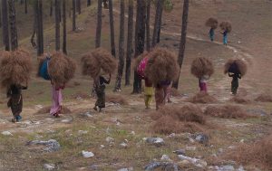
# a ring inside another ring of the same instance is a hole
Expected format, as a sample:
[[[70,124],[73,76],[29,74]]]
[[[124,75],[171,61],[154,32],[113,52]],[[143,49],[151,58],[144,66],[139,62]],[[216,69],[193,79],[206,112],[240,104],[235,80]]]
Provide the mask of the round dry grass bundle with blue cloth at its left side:
[[[54,52],[48,64],[48,73],[56,85],[62,86],[74,77],[76,64],[63,52]]]

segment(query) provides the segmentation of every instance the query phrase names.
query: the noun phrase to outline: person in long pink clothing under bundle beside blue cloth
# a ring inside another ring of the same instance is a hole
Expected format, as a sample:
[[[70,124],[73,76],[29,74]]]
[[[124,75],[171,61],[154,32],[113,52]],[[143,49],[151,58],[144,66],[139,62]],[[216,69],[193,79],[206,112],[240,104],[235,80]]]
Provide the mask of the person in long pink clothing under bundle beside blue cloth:
[[[55,117],[55,118],[59,118],[61,111],[62,111],[62,103],[63,103],[63,94],[62,94],[62,90],[65,88],[65,86],[57,86],[55,85],[52,81],[52,100],[53,100],[53,104],[52,107],[50,109],[50,114]]]

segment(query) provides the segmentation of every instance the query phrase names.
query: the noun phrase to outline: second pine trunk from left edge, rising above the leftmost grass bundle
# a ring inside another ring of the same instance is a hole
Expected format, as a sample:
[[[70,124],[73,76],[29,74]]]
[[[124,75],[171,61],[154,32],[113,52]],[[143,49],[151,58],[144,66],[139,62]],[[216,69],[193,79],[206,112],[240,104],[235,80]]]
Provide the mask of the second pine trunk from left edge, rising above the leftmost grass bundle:
[[[9,22],[11,31],[11,49],[15,51],[18,48],[18,35],[16,27],[15,0],[8,0]]]

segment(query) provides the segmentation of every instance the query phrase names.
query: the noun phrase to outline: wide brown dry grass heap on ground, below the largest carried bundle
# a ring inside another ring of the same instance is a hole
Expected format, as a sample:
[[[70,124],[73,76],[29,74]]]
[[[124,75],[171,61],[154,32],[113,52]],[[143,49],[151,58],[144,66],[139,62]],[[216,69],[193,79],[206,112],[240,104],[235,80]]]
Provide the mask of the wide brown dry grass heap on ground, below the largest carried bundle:
[[[152,112],[151,119],[155,120],[151,129],[160,134],[203,132],[203,125],[206,124],[202,110],[195,105],[165,106]]]

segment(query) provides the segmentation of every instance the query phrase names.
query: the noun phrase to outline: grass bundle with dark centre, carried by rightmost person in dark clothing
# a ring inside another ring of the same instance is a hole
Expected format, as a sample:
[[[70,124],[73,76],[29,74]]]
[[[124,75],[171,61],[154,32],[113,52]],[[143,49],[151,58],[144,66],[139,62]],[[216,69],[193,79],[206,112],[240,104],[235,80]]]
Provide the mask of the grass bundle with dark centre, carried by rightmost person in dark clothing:
[[[228,62],[225,63],[224,73],[232,72],[241,74],[241,76],[246,75],[248,71],[247,63],[240,59],[229,59]]]

